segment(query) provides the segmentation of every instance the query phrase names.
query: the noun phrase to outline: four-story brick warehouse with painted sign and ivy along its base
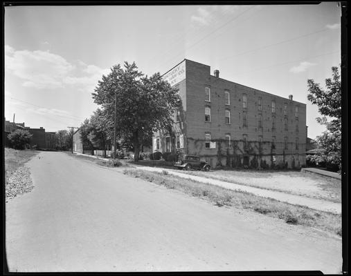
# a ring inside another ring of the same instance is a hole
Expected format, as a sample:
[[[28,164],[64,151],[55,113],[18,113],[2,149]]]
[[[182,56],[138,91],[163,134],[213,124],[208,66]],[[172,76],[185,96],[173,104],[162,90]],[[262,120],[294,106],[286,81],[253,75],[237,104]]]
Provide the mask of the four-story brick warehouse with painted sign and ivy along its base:
[[[163,78],[179,89],[172,133],[154,133],[153,151],[199,155],[212,167],[305,165],[306,105],[210,75],[184,59]]]

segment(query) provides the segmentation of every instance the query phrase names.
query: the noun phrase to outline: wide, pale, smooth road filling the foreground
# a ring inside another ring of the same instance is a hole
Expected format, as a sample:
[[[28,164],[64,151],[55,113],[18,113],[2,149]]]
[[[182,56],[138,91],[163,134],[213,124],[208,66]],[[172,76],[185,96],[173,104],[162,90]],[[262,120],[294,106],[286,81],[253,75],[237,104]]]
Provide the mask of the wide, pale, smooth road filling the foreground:
[[[6,204],[11,271],[341,272],[341,239],[41,152]]]

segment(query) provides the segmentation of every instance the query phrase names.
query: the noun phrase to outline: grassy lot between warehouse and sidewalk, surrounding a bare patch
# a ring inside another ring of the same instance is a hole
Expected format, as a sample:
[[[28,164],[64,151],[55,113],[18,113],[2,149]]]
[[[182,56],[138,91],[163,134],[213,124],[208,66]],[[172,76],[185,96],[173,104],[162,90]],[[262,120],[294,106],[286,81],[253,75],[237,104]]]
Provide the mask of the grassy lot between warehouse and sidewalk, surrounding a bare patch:
[[[308,175],[303,172],[298,172],[296,170],[287,170],[287,171],[256,171],[256,170],[211,170],[210,172],[202,172],[202,171],[189,171],[183,170],[182,173],[186,173],[188,175],[195,175],[199,177],[206,177],[210,179],[216,179],[226,182],[231,182],[233,184],[239,184],[244,186],[251,186],[255,188],[261,188],[264,190],[275,190],[282,193],[288,193],[291,195],[301,195],[305,197],[312,197],[316,199],[325,199],[327,201],[332,201],[336,203],[341,203],[341,181],[339,179],[333,179],[331,177],[323,177],[319,175]],[[318,181],[318,186],[321,190],[325,190],[326,195],[318,195],[309,193],[303,193],[299,190],[287,190],[282,188],[271,188],[269,186],[264,186],[264,184],[258,184],[258,182],[253,181],[249,183],[248,181],[240,181],[240,178],[245,177],[246,179],[267,179],[268,177],[274,177],[275,175],[283,174],[288,178],[301,177],[303,176],[307,180]]]

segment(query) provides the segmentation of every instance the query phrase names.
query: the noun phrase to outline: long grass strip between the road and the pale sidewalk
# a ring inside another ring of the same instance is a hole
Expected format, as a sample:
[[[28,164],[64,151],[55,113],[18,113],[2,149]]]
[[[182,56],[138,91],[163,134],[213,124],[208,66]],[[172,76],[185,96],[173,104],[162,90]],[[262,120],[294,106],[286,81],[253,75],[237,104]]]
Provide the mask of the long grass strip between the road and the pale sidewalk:
[[[169,189],[179,190],[192,197],[205,199],[215,204],[215,206],[231,206],[238,209],[253,210],[262,215],[283,219],[287,224],[310,226],[341,236],[341,215],[287,204],[276,199],[258,197],[242,191],[227,190],[191,179],[183,179],[170,175],[166,170],[163,170],[163,172],[145,172],[125,169],[123,173]]]

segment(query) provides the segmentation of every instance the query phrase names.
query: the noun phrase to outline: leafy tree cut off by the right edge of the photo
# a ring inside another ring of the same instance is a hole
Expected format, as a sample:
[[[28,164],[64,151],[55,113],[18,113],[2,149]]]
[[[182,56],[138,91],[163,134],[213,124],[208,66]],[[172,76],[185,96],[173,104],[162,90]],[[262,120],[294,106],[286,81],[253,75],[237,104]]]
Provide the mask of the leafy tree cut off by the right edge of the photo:
[[[315,161],[325,161],[332,166],[339,166],[341,171],[341,80],[339,69],[332,67],[332,78],[325,79],[325,90],[313,79],[307,80],[307,99],[318,106],[323,117],[316,120],[327,130],[316,138],[325,152],[319,152]]]

